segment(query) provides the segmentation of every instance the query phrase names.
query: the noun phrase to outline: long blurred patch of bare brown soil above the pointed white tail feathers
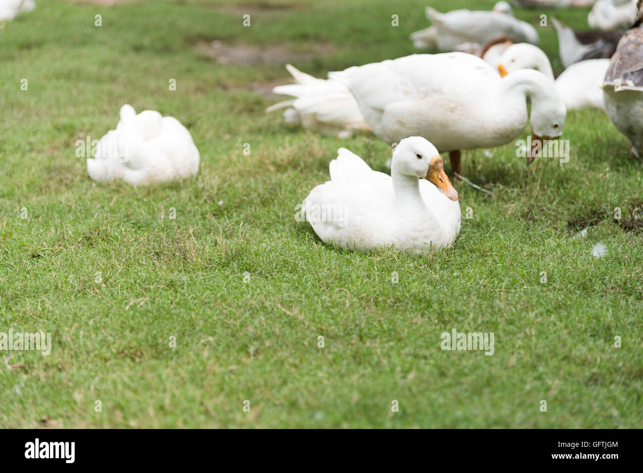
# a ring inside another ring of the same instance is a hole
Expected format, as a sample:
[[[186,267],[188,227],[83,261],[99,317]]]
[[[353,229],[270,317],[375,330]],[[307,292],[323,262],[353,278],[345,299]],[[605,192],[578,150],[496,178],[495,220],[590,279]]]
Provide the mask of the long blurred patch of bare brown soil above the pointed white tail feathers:
[[[199,42],[195,46],[199,54],[215,58],[219,64],[251,64],[302,62],[329,55],[333,48],[330,44],[278,43],[257,46],[255,44],[225,44],[221,40]]]

